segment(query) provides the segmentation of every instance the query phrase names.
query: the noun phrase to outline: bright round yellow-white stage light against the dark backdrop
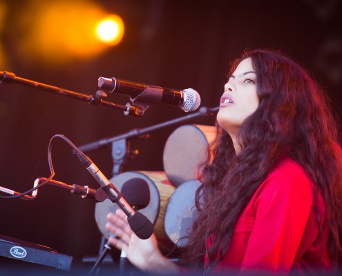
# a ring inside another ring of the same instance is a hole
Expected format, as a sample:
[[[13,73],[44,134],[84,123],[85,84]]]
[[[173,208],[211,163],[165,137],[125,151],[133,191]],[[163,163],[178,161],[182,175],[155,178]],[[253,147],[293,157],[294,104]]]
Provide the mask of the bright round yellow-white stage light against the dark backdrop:
[[[124,35],[124,22],[117,15],[110,15],[99,22],[97,37],[109,45],[117,45]]]

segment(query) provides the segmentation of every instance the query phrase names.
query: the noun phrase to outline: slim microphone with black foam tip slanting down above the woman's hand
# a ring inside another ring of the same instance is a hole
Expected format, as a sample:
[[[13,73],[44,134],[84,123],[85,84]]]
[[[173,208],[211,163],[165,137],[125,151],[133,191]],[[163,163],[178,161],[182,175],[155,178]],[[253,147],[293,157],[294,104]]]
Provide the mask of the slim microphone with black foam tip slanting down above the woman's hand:
[[[111,182],[104,176],[104,174],[97,168],[91,159],[86,156],[83,152],[77,152],[77,157],[81,160],[82,164],[86,167],[88,172],[93,175],[97,180],[99,185],[102,187],[108,196],[108,199],[117,206],[120,207],[127,215],[127,221],[129,226],[131,226],[132,231],[140,237],[140,239],[148,239],[153,234],[153,224],[147,217],[142,215],[142,213],[135,212],[133,208],[127,203],[127,201],[122,197],[121,193]]]

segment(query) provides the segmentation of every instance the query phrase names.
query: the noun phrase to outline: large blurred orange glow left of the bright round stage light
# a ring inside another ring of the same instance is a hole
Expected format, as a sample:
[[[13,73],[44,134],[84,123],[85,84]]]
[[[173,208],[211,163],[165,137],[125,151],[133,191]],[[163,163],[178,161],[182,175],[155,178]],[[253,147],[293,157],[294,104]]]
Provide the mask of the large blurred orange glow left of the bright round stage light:
[[[47,63],[64,63],[73,58],[88,58],[106,50],[97,37],[98,22],[106,14],[90,0],[55,0],[43,5],[28,1],[18,27],[23,36],[17,43],[26,60],[39,58]],[[121,40],[121,39],[120,39]]]

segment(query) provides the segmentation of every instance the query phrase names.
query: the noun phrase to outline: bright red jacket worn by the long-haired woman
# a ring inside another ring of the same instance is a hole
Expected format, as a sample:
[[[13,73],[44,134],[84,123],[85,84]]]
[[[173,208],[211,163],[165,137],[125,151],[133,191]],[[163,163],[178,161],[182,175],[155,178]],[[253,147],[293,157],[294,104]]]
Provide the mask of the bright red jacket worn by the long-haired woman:
[[[303,167],[284,159],[249,201],[238,219],[229,250],[213,273],[264,275],[292,270],[301,274],[331,268],[325,204],[317,193],[316,208],[323,229],[319,235],[313,197],[313,184]]]

